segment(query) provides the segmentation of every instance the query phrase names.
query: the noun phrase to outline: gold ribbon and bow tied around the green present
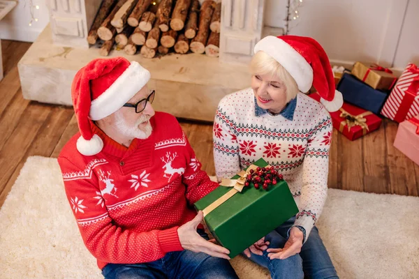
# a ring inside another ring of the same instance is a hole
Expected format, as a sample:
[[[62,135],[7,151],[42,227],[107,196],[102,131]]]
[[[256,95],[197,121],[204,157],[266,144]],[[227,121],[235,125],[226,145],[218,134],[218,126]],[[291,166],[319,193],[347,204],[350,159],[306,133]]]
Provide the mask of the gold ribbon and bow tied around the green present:
[[[265,167],[270,167],[270,165],[267,165]],[[246,183],[247,176],[250,174],[250,170],[253,169],[253,171],[256,171],[257,168],[257,165],[250,165],[246,171],[242,170],[237,174],[238,176],[240,176],[239,179],[221,179],[220,186],[232,187],[233,189],[229,190],[227,193],[214,200],[212,204],[205,207],[205,209],[203,210],[204,217],[207,216],[207,214],[209,214],[211,211],[216,209],[218,206],[226,202],[228,199],[230,199],[230,197],[233,197],[235,194],[242,192],[244,188],[244,183]]]

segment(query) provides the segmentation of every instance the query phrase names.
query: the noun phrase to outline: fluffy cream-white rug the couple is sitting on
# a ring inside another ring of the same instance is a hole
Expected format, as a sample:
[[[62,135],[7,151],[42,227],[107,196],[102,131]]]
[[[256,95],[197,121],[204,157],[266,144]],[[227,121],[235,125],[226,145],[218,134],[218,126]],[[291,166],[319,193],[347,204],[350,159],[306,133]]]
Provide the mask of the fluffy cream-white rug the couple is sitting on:
[[[419,278],[419,197],[329,190],[318,221],[340,278]],[[240,278],[269,278],[242,257]],[[0,278],[103,278],[56,159],[30,157],[0,211]]]

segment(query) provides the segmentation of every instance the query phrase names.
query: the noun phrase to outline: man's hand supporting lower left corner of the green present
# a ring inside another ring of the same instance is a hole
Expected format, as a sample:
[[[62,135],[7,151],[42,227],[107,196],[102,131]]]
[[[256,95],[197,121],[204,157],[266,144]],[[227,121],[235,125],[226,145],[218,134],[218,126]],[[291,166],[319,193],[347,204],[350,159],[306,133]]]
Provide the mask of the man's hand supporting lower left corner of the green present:
[[[215,239],[206,241],[198,234],[198,232],[196,232],[196,227],[198,227],[202,220],[203,211],[199,211],[198,215],[193,218],[193,220],[185,223],[177,229],[177,234],[179,235],[179,241],[182,247],[193,252],[205,252],[210,256],[230,259],[230,257],[228,257],[228,254],[230,253],[229,250],[216,245],[214,243]]]

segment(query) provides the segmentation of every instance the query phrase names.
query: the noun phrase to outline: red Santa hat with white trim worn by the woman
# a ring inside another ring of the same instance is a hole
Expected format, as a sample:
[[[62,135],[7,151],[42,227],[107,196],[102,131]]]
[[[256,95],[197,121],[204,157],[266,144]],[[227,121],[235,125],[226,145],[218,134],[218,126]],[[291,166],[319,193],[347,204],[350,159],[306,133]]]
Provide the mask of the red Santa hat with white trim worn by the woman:
[[[313,85],[326,110],[336,112],[341,108],[344,100],[335,90],[328,55],[316,40],[291,35],[267,36],[255,45],[254,53],[259,51],[278,61],[294,78],[300,91],[307,92]]]

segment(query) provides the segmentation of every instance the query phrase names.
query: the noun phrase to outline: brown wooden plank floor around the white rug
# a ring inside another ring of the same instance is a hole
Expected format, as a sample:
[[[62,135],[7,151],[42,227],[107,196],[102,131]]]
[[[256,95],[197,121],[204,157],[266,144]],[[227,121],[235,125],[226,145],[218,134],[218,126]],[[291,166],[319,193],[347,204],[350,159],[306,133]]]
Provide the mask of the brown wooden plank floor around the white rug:
[[[0,82],[0,206],[28,156],[56,158],[78,130],[71,107],[22,98],[17,62],[30,43],[2,40],[4,79]],[[203,169],[214,175],[212,126],[181,121]],[[418,196],[419,166],[392,146],[397,123],[351,142],[333,131],[329,187]]]

